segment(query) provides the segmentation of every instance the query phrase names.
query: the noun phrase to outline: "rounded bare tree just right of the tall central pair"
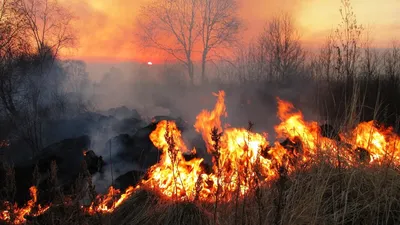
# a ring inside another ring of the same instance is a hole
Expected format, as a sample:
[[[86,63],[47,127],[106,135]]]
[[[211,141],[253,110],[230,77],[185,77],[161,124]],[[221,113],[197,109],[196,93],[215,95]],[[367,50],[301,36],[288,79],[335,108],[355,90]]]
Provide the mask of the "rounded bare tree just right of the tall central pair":
[[[237,53],[236,69],[241,83],[287,83],[305,71],[305,51],[288,14],[267,21],[264,31]]]

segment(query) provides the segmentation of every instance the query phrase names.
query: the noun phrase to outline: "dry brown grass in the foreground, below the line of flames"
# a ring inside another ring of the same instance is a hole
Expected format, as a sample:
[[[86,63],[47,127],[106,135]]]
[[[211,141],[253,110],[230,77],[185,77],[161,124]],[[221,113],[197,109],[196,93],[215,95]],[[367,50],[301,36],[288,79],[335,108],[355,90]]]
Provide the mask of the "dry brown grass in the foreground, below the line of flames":
[[[279,193],[283,193],[283,200],[278,205]],[[240,210],[235,210],[237,207]],[[166,202],[151,192],[140,191],[111,216],[110,222],[214,224],[214,204]],[[339,170],[324,164],[293,174],[283,186],[278,182],[263,186],[245,201],[221,203],[216,224],[399,223],[400,174],[396,169],[369,166]]]

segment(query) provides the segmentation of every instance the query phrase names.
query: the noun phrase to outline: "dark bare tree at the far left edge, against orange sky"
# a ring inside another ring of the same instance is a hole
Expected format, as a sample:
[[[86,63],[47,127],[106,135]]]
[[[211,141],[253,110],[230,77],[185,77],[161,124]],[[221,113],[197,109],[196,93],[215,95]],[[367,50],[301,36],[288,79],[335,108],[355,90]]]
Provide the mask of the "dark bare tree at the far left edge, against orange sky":
[[[1,24],[9,35],[1,50],[0,99],[34,154],[43,147],[42,123],[61,99],[62,71],[53,65],[59,50],[73,44],[72,16],[55,0],[7,0],[4,6]]]

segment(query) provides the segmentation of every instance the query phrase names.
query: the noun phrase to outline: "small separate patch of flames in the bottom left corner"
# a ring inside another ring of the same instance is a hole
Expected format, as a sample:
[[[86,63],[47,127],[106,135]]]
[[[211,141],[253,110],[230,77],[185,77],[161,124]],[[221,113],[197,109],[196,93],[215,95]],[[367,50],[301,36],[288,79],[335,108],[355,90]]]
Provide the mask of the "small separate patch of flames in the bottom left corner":
[[[42,207],[40,204],[36,205],[37,188],[35,186],[29,188],[29,191],[31,199],[22,208],[19,208],[17,204],[11,204],[9,202],[4,203],[6,210],[0,212],[0,221],[13,224],[23,224],[26,222],[25,216],[39,216],[50,208],[50,205],[45,207]]]

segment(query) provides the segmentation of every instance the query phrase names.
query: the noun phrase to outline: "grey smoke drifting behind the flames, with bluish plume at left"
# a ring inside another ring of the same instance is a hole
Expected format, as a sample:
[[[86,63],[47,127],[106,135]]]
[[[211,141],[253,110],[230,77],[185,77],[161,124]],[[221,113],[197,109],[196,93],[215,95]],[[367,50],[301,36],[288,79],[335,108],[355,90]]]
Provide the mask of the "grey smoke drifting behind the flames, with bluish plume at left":
[[[255,82],[239,84],[234,74],[222,81],[216,70],[210,68],[207,85],[191,86],[185,68],[179,65],[58,63],[57,73],[63,79],[53,80],[56,83],[51,89],[44,90],[50,93],[57,89],[57,96],[63,97],[61,102],[64,102],[65,111],[53,116],[49,120],[51,123],[46,123],[44,144],[89,135],[91,150],[101,155],[106,163],[104,173],[93,176],[100,192],[119,176],[131,170],[145,169],[141,161],[121,157],[124,139],[114,137],[126,134],[132,138],[138,130],[145,130],[145,134],[150,132],[145,127],[155,116],[185,121],[187,127],[183,137],[187,146],[196,147],[199,156],[209,161],[201,135],[195,132],[193,124],[203,109],[214,108],[216,97],[212,93],[219,90],[226,92],[228,117],[224,121],[227,124],[246,128],[251,121],[255,131],[267,132],[271,139],[274,139],[274,126],[279,122],[276,97],[293,102],[306,116],[316,118],[312,111],[307,111],[312,109],[313,96],[312,84],[307,81],[296,80],[286,86]],[[38,80],[36,84],[45,88],[49,83]],[[52,105],[52,101],[53,98],[44,98],[43,104]],[[147,152],[150,149],[142,151],[143,154],[154,154]]]

